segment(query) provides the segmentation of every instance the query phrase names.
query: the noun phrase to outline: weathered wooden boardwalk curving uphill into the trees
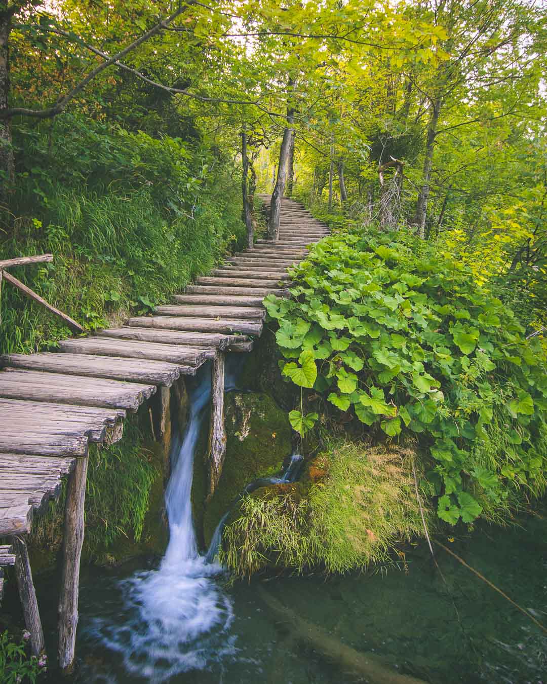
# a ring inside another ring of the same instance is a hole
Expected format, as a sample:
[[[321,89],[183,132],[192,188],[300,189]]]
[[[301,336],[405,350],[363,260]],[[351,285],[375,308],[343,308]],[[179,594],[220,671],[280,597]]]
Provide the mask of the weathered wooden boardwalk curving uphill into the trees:
[[[223,352],[252,350],[263,330],[263,298],[289,296],[286,269],[327,233],[302,205],[283,200],[278,241],[256,240],[154,315],[64,340],[55,353],[0,357],[0,537],[27,534],[33,514],[59,495],[62,478],[87,460],[89,443],[120,439],[126,413],[158,388],[220,358],[213,385],[223,388]],[[10,545],[0,547],[0,592],[1,566],[15,561]]]

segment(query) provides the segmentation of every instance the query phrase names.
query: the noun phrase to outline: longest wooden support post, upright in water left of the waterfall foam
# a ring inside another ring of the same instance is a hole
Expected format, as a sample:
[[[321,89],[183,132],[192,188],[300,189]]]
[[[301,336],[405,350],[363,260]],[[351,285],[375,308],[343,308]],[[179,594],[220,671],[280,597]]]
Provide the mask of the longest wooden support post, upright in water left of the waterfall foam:
[[[59,595],[59,667],[69,674],[74,666],[80,556],[83,545],[83,504],[88,457],[78,458],[68,478],[64,510],[63,570]]]

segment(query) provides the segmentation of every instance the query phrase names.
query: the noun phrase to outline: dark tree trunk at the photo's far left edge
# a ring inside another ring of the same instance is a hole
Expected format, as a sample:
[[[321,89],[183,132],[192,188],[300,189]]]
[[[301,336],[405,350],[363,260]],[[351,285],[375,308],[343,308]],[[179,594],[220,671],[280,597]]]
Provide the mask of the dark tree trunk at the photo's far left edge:
[[[8,119],[1,118],[8,109],[10,95],[10,51],[8,41],[12,30],[15,6],[8,7],[7,0],[0,0],[0,202],[8,200],[13,185],[15,162],[12,147],[12,127]]]

